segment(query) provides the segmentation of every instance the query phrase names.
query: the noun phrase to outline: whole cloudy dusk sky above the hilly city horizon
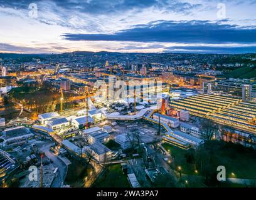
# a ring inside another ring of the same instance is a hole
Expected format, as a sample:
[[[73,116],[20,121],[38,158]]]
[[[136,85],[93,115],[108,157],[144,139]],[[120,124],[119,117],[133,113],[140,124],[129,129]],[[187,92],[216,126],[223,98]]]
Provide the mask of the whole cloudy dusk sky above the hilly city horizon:
[[[0,0],[0,53],[256,53],[256,0]]]

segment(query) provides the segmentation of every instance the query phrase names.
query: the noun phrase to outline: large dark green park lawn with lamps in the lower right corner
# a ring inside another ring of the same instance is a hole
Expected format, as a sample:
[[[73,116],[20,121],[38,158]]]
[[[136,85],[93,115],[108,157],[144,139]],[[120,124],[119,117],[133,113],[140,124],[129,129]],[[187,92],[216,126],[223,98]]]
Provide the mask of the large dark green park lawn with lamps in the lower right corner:
[[[188,154],[192,154],[195,160],[199,156],[202,163],[209,162],[208,168],[211,171],[215,171],[217,166],[225,166],[227,178],[256,179],[256,151],[253,149],[223,141],[206,141],[205,145],[196,151],[178,149],[169,144],[163,144],[163,147],[169,150],[174,158],[174,162],[170,164],[171,168],[178,169],[178,166],[181,166],[183,174],[196,175],[195,162],[188,162]],[[200,168],[197,170],[198,175],[201,175]]]

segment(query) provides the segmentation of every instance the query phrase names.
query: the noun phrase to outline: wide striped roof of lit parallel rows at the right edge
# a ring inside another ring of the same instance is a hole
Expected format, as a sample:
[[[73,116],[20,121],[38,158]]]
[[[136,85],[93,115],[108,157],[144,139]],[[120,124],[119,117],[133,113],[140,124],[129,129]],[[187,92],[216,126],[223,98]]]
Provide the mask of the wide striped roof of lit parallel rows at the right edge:
[[[253,124],[252,120],[256,118],[256,103],[226,96],[198,94],[174,100],[171,106],[178,110],[186,109],[192,115],[211,119],[219,124],[256,134],[256,124]]]

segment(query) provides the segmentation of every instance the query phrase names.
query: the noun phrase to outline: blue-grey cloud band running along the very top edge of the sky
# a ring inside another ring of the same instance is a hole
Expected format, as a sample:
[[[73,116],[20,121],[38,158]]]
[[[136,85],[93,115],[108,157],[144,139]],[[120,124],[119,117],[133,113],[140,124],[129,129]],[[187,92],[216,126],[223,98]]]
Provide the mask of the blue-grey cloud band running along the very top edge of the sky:
[[[31,2],[39,4],[40,6],[47,4],[47,1],[43,2],[41,0],[0,0],[0,6],[28,9],[28,5]],[[76,14],[78,12],[90,14],[114,14],[118,12],[146,8],[157,8],[165,11],[187,13],[189,9],[198,8],[200,6],[200,4],[180,2],[179,0],[51,0],[51,2],[55,2],[56,8],[67,9],[69,11],[67,14]],[[40,9],[40,6],[38,6],[38,9]]]

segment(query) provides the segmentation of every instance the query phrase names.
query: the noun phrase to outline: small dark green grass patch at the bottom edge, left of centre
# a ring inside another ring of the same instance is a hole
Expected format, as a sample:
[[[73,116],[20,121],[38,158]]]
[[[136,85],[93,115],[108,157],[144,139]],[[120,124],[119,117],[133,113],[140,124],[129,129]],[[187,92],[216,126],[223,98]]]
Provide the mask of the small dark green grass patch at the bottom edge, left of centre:
[[[114,164],[107,167],[107,173],[96,181],[94,187],[130,187],[130,185],[121,165]]]

